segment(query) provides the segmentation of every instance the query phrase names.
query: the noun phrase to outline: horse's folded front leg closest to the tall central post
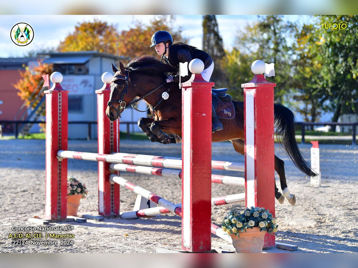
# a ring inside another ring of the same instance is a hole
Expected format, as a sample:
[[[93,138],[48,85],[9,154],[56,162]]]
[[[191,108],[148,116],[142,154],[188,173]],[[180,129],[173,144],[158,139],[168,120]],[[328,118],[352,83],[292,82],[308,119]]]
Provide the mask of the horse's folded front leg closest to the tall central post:
[[[182,133],[182,122],[175,119],[166,119],[153,121],[150,130],[158,137],[161,143],[178,143],[181,142],[179,135]],[[177,135],[168,135],[163,130],[166,130]],[[179,141],[180,140],[180,141]]]

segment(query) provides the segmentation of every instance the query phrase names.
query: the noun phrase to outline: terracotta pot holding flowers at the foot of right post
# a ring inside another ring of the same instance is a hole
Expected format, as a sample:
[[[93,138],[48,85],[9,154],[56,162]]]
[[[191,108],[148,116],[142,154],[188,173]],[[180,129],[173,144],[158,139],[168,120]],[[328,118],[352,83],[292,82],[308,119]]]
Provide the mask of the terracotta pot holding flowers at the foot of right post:
[[[236,253],[261,253],[266,232],[260,232],[259,227],[247,228],[239,233],[240,237],[231,234],[232,245]]]

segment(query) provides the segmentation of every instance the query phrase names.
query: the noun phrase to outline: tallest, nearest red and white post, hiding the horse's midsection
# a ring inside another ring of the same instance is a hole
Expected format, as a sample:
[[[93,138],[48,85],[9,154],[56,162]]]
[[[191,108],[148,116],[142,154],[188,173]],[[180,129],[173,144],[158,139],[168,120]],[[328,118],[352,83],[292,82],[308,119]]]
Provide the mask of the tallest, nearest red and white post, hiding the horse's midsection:
[[[182,248],[211,250],[211,88],[199,59],[182,88]]]

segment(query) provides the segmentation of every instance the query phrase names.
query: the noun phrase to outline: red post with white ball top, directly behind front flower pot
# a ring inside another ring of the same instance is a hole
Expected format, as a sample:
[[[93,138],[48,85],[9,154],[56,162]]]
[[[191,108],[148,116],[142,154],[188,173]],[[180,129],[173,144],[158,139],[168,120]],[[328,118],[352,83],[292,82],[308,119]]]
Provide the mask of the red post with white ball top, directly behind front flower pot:
[[[275,216],[274,87],[263,73],[263,61],[254,61],[253,79],[242,84],[245,121],[246,207],[263,207]],[[265,235],[264,247],[274,247],[275,236]]]

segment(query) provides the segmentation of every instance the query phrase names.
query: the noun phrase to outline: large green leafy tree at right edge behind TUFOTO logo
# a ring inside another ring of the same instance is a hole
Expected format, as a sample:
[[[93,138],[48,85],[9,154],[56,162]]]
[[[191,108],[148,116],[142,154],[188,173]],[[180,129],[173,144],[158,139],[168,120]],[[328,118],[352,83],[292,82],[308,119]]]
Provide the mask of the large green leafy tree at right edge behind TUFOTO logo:
[[[313,37],[320,40],[315,48],[316,59],[322,66],[320,104],[334,113],[332,121],[336,122],[342,114],[358,113],[358,16],[319,15],[316,18]],[[343,23],[347,28],[329,28],[330,23]]]

